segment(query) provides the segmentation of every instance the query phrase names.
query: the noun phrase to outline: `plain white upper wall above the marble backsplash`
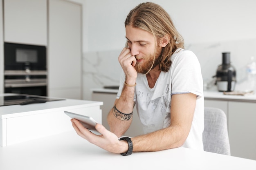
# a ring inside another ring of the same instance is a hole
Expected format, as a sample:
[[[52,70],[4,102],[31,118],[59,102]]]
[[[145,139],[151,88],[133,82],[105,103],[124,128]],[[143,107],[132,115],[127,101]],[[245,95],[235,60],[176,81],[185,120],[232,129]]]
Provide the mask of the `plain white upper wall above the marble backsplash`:
[[[145,0],[85,0],[84,51],[111,51],[125,44],[124,20]],[[255,0],[151,0],[174,21],[185,43],[256,38]]]

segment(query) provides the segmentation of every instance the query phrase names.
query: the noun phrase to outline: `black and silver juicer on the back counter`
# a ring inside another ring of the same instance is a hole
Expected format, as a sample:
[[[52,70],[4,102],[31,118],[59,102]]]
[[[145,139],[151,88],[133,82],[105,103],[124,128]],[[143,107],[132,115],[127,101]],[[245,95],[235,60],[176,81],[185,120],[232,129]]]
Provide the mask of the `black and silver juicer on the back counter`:
[[[216,71],[218,91],[234,91],[236,85],[236,69],[231,65],[230,53],[222,53],[222,64]]]

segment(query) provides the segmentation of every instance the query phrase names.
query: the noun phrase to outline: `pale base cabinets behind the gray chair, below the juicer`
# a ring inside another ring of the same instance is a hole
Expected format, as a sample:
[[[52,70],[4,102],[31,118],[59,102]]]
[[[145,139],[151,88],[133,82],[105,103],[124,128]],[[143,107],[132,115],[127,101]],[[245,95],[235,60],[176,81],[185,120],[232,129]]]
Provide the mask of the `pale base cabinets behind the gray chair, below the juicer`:
[[[256,103],[205,99],[204,106],[226,113],[231,156],[256,160]]]

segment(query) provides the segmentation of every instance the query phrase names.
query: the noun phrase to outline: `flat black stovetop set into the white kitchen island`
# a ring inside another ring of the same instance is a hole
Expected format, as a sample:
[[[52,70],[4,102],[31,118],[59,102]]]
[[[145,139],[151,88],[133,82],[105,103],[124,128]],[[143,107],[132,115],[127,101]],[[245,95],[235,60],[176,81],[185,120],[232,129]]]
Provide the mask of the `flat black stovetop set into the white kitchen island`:
[[[58,101],[58,100],[65,100],[65,99],[36,96],[36,95],[13,94],[13,95],[0,96],[0,106],[27,105],[27,104],[45,103],[45,102]]]

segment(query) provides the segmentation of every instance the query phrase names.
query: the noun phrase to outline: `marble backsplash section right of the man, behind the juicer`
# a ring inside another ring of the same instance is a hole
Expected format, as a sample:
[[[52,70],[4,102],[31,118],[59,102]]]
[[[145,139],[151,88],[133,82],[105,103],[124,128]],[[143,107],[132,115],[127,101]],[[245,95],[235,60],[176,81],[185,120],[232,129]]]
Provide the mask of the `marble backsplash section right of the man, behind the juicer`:
[[[236,68],[237,83],[235,90],[247,90],[246,66],[251,56],[256,57],[256,39],[188,44],[186,49],[193,51],[198,57],[204,84],[209,88],[214,88],[212,86],[215,79],[212,77],[216,75],[218,66],[222,64],[222,53],[230,52],[231,65]]]

